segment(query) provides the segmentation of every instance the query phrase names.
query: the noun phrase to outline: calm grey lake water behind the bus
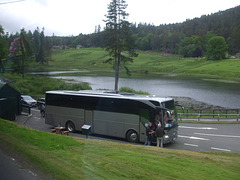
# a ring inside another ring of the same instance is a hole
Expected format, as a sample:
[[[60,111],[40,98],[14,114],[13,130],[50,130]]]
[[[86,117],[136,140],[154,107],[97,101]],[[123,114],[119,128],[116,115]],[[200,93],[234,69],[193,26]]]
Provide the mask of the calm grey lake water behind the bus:
[[[93,90],[114,89],[114,77],[59,76],[75,82],[88,82]],[[149,92],[158,96],[190,97],[208,104],[240,108],[240,84],[193,78],[161,77],[160,79],[120,78],[120,87]]]

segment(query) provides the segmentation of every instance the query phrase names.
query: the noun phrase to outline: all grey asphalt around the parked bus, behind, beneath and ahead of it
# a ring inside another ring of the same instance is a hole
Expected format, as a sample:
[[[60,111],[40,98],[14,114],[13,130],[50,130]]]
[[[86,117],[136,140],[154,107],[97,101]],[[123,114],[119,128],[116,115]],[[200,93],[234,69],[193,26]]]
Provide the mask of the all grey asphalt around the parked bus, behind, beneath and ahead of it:
[[[32,109],[32,116],[21,116],[17,123],[30,128],[50,132],[52,128],[44,123],[40,113]],[[84,137],[81,133],[70,133],[71,136]],[[122,139],[103,136],[89,136],[104,140],[127,143]],[[237,152],[240,153],[240,124],[193,124],[179,123],[179,137],[173,144],[165,145],[165,148],[190,151],[208,152]]]

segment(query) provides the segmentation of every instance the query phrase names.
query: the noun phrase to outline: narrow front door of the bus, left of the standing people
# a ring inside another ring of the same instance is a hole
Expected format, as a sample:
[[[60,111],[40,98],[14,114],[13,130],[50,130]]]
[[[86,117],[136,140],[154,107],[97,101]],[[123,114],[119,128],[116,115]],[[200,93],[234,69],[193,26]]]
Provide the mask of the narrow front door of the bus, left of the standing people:
[[[146,127],[148,126],[150,119],[150,112],[146,109],[140,110],[139,116],[139,141],[144,142],[146,140]]]

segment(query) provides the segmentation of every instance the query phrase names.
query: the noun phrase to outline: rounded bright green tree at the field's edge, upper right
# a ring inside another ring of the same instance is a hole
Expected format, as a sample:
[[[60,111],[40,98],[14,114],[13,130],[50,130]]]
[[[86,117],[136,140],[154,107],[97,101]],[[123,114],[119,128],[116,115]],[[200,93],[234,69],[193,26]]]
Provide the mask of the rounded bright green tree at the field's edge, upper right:
[[[227,43],[222,36],[214,36],[207,42],[207,58],[221,60],[226,58]]]

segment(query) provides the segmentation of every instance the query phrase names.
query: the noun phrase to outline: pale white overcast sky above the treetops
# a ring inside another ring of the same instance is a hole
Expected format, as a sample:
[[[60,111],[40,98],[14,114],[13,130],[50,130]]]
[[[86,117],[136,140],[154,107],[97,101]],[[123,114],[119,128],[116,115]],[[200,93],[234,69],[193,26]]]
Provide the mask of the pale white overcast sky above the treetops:
[[[20,1],[15,3],[5,3]],[[5,32],[45,28],[45,35],[71,36],[104,27],[111,0],[0,0],[0,25]],[[240,5],[240,0],[126,0],[131,23],[156,26],[183,22]]]

